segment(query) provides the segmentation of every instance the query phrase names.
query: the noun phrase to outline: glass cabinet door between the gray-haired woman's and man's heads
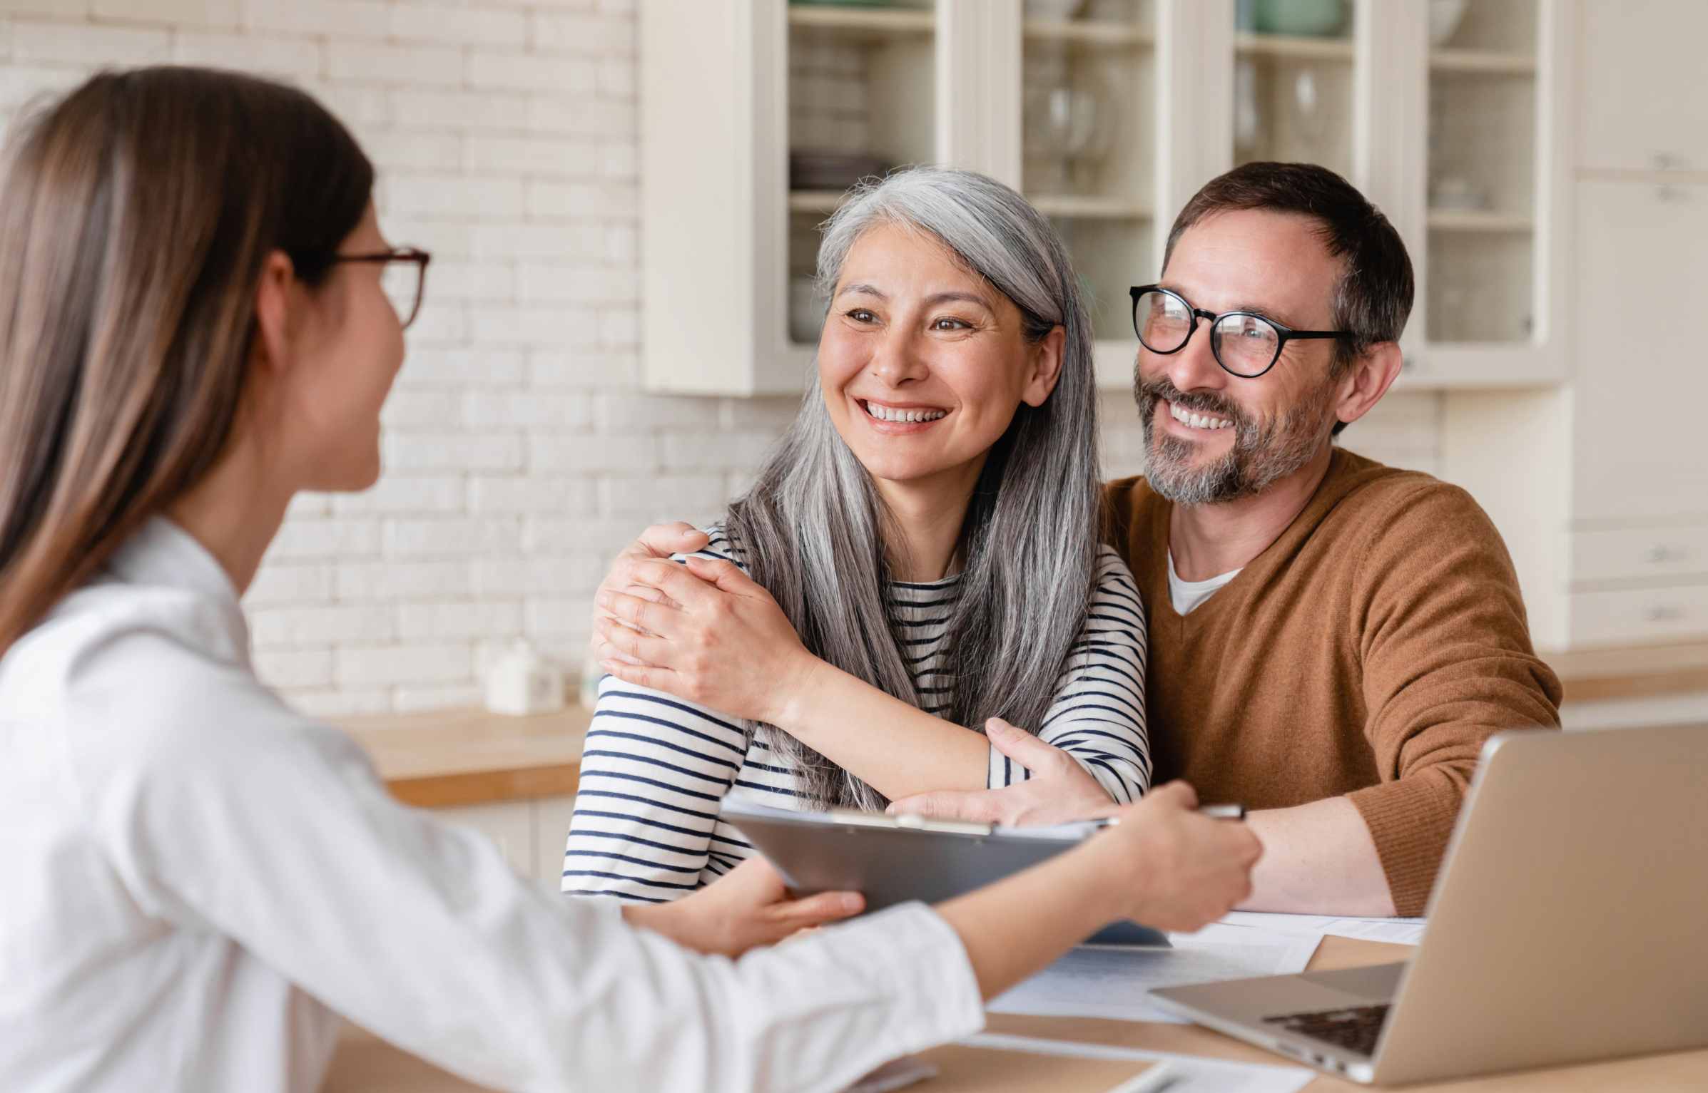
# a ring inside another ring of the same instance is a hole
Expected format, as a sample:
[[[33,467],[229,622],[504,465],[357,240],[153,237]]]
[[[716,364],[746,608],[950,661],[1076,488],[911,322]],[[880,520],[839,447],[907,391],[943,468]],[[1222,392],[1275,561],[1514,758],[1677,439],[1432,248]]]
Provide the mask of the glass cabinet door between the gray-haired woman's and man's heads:
[[[1131,367],[1127,289],[1155,270],[1151,0],[1023,0],[1021,191],[1061,232],[1093,338]],[[1100,354],[1103,355],[1103,354]]]

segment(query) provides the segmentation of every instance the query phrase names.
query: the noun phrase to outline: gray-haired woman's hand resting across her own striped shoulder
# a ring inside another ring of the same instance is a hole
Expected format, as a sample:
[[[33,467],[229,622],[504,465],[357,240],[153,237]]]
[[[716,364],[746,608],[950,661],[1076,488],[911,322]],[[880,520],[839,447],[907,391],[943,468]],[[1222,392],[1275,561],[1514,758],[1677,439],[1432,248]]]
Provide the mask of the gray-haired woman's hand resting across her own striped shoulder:
[[[635,558],[639,587],[598,594],[600,639],[618,656],[600,666],[639,687],[709,709],[787,728],[789,705],[827,668],[789,618],[736,565],[711,558]],[[658,594],[658,598],[654,598]]]

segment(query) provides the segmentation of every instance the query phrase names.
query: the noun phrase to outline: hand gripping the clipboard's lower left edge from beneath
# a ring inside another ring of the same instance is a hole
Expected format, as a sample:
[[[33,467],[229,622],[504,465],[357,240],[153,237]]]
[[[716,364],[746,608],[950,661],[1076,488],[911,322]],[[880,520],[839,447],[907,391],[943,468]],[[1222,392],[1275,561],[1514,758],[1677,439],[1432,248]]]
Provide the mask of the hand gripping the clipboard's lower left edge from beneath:
[[[763,857],[750,857],[693,895],[675,903],[625,907],[623,917],[690,950],[740,956],[803,929],[857,915],[864,907],[866,900],[854,891],[791,900],[777,869]]]

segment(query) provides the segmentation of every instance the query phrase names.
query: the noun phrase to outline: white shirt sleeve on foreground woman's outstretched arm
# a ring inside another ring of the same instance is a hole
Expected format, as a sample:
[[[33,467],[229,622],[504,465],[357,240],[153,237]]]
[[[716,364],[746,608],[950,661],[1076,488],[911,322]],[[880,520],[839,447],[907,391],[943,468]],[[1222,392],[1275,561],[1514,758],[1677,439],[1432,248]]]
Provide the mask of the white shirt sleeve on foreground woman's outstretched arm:
[[[965,950],[926,907],[700,956],[398,804],[348,738],[241,668],[137,632],[79,675],[73,716],[102,726],[79,789],[137,903],[473,1081],[828,1091],[982,1025]]]

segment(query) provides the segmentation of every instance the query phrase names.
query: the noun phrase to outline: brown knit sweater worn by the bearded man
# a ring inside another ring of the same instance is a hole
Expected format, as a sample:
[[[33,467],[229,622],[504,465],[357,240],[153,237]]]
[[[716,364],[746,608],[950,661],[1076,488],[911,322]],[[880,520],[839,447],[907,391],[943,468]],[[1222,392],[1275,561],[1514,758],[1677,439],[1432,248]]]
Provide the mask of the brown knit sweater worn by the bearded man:
[[[1281,538],[1182,618],[1172,504],[1143,478],[1105,500],[1149,613],[1156,782],[1252,810],[1349,796],[1421,915],[1483,741],[1559,726],[1494,524],[1459,487],[1336,449]]]

